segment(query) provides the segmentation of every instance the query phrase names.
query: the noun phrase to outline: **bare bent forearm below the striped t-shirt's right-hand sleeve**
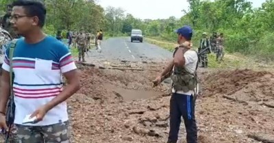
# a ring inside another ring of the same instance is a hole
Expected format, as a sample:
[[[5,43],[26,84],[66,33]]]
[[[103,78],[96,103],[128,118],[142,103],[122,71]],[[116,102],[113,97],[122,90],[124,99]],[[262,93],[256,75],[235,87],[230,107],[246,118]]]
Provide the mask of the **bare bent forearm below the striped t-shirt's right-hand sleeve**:
[[[69,99],[69,97],[80,89],[80,79],[77,69],[64,73],[64,77],[68,84],[58,96],[45,105],[47,112],[56,105],[66,101],[66,99]]]

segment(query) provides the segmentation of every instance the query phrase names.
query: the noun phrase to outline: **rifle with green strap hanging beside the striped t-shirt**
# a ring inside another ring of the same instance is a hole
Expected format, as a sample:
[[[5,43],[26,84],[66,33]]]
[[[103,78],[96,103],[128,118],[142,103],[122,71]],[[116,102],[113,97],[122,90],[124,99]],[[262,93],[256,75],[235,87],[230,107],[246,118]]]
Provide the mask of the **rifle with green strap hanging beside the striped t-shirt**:
[[[12,70],[12,57],[14,53],[14,48],[16,47],[16,39],[12,40],[10,45],[10,99],[8,101],[5,120],[8,125],[8,132],[5,132],[5,143],[8,143],[10,139],[10,131],[12,130],[12,125],[14,125],[14,112],[15,112],[15,103],[14,103],[14,93],[12,90],[14,73]]]

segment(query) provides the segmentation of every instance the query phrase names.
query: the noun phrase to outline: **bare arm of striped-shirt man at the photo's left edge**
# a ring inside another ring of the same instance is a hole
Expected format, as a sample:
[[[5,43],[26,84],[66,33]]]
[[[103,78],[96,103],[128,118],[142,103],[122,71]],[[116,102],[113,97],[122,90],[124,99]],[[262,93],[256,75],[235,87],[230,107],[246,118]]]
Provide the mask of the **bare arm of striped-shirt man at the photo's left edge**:
[[[5,107],[10,97],[10,73],[6,70],[2,70],[1,76],[1,92],[0,92],[0,112],[5,113]]]

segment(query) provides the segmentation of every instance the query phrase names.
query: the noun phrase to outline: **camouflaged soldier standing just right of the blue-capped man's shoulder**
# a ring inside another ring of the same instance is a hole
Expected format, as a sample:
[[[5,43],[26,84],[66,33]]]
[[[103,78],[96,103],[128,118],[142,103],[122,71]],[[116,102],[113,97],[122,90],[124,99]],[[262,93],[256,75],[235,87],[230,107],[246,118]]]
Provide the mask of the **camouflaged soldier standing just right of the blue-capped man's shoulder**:
[[[200,57],[199,62],[201,62],[201,65],[203,68],[208,67],[208,53],[211,53],[211,47],[210,47],[210,40],[207,38],[208,34],[206,32],[203,32],[203,38],[200,40],[200,47],[199,47],[199,53],[202,50],[206,50],[205,53],[203,53]]]

